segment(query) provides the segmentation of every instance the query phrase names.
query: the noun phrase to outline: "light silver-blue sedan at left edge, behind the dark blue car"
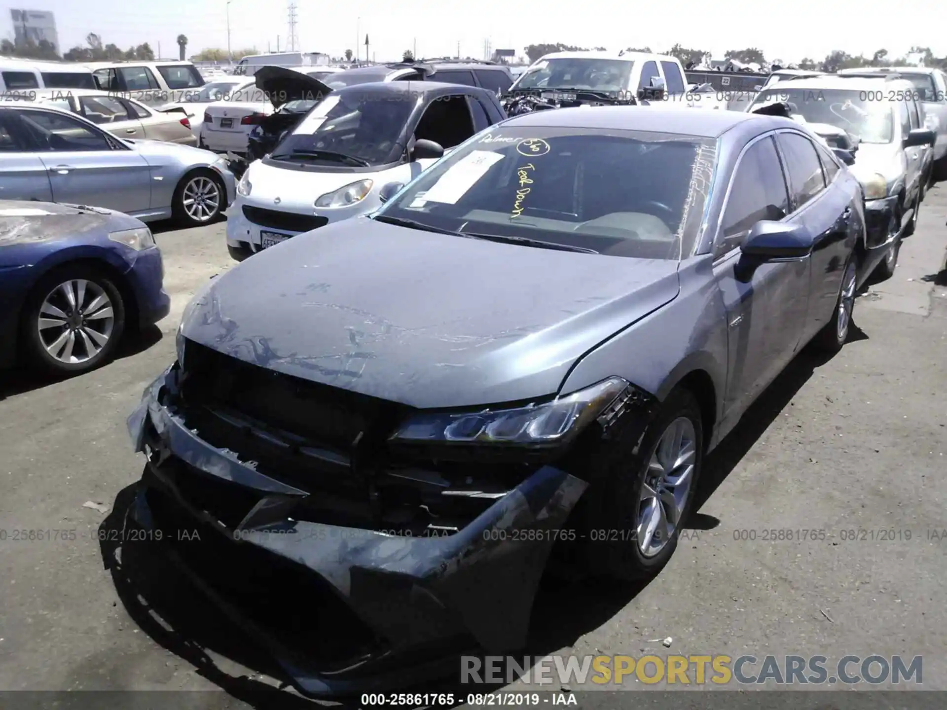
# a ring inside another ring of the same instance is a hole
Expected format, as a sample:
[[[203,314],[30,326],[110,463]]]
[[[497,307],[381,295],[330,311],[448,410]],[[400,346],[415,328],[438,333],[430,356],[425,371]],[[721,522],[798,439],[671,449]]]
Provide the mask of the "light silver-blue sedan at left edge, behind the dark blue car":
[[[118,138],[49,106],[0,106],[0,152],[0,200],[88,204],[196,226],[218,219],[236,194],[215,153]]]

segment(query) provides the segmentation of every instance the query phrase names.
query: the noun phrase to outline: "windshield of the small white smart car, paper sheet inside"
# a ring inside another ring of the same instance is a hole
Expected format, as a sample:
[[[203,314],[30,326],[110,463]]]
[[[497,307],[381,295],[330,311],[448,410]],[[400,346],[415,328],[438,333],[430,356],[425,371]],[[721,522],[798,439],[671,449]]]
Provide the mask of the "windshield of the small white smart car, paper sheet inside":
[[[387,92],[384,87],[353,88],[331,94],[273,151],[272,160],[338,165],[379,166],[391,162],[403,147],[399,140],[417,98]]]

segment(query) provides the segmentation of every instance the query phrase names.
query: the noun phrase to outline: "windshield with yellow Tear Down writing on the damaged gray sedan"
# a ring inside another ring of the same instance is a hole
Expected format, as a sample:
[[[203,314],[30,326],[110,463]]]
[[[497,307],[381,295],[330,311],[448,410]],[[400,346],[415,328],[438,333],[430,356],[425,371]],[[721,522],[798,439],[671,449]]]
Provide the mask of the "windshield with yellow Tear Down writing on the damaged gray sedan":
[[[492,240],[677,259],[693,248],[715,156],[712,139],[691,135],[501,127],[421,173],[376,217]]]

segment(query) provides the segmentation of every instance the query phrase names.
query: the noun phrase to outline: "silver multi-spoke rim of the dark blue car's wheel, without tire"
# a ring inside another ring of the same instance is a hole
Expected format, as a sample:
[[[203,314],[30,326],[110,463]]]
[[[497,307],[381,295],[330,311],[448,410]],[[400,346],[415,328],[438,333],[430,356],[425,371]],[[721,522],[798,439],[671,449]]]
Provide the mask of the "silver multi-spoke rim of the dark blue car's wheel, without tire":
[[[66,281],[46,295],[36,325],[50,357],[63,364],[85,363],[112,337],[112,299],[94,281]]]

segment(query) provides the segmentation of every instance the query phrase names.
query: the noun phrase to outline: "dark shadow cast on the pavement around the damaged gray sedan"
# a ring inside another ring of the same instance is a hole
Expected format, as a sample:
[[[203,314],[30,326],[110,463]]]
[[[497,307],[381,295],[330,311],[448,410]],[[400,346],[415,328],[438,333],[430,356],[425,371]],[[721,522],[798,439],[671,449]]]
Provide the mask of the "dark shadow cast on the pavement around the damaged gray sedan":
[[[849,329],[849,343],[867,339],[854,323]],[[699,510],[706,500],[736,468],[743,456],[763,435],[779,414],[791,405],[799,389],[812,378],[814,371],[831,360],[831,356],[804,348],[777,379],[747,410],[737,427],[724,438],[706,458],[694,507]],[[125,539],[125,514],[134,501],[136,485],[121,490],[112,512],[103,521],[98,539],[101,556],[113,579],[116,592],[126,612],[138,627],[162,648],[176,654],[197,668],[197,673],[219,686],[233,698],[254,708],[319,707],[319,703],[287,691],[289,678],[277,663],[253,642],[250,636],[217,609],[169,559],[157,553],[157,543],[121,544]],[[716,518],[696,513],[686,529],[706,530],[720,524]],[[232,571],[230,571],[232,573]],[[533,605],[527,648],[514,654],[518,662],[544,657],[561,648],[574,647],[585,634],[612,619],[647,586],[634,584],[602,584],[589,578],[563,579],[548,574],[540,586]],[[227,672],[211,654],[236,662],[250,675]],[[426,683],[419,689],[426,693],[453,692],[464,700],[468,692],[485,693],[501,685],[478,683],[464,686],[459,682],[460,658],[454,679]],[[481,666],[482,667],[482,666]],[[257,680],[265,676],[276,683]],[[559,691],[558,685],[547,687]],[[407,689],[405,689],[407,690]],[[333,699],[334,700],[334,699]],[[339,699],[339,708],[354,708]]]

